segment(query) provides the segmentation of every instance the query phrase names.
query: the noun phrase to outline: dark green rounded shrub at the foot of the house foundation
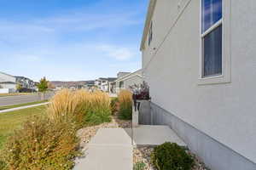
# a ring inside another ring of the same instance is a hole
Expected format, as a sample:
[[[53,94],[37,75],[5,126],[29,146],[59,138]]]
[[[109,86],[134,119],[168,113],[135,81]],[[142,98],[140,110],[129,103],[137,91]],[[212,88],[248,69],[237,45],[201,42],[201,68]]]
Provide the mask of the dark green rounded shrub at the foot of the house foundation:
[[[151,161],[157,170],[190,170],[194,165],[193,158],[174,143],[155,147]]]

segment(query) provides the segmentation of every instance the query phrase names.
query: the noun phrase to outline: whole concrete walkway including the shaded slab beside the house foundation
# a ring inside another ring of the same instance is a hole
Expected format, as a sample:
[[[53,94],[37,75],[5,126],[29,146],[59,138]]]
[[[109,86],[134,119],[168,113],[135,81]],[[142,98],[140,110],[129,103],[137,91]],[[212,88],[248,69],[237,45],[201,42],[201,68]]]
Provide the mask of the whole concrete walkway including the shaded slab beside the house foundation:
[[[168,126],[140,125],[131,128],[101,128],[77,159],[74,170],[132,170],[133,147],[155,146],[165,142],[187,145]]]

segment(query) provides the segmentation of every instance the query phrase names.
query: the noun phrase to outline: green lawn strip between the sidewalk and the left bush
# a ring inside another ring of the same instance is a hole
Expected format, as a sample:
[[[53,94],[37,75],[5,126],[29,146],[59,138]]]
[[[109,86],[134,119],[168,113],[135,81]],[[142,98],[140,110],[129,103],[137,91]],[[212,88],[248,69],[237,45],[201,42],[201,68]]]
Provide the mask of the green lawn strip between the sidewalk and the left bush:
[[[25,122],[28,117],[35,115],[44,115],[46,105],[27,108],[19,111],[10,111],[0,113],[0,150],[6,138],[11,135],[15,129],[19,129],[22,122]]]

